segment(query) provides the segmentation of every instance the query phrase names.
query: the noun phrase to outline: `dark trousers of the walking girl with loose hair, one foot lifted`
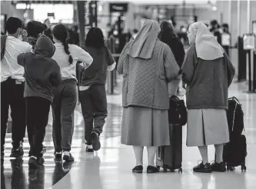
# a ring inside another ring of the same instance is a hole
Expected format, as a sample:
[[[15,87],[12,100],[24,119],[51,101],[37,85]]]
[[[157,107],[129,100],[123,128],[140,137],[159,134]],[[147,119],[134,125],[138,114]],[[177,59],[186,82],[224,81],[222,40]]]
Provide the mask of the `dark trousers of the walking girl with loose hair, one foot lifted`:
[[[108,115],[105,85],[91,85],[88,90],[79,91],[79,99],[85,120],[85,141],[90,144],[91,131],[101,134]]]

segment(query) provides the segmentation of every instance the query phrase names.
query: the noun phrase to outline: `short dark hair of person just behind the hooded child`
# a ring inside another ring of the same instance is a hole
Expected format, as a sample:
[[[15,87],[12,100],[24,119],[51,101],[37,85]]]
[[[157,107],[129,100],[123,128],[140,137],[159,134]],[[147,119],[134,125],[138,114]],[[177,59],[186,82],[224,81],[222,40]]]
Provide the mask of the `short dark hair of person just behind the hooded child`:
[[[32,36],[34,38],[37,38],[38,34],[42,34],[42,32],[45,31],[46,28],[47,26],[45,24],[32,20],[28,22],[27,25],[28,37]]]

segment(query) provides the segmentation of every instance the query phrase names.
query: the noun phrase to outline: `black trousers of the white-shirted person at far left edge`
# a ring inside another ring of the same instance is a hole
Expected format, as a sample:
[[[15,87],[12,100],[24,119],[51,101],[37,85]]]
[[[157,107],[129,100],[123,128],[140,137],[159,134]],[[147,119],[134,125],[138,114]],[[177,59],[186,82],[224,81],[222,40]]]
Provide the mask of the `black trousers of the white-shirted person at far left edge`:
[[[25,99],[24,82],[8,78],[1,82],[1,151],[4,151],[8,110],[12,116],[12,146],[18,148],[25,137]]]

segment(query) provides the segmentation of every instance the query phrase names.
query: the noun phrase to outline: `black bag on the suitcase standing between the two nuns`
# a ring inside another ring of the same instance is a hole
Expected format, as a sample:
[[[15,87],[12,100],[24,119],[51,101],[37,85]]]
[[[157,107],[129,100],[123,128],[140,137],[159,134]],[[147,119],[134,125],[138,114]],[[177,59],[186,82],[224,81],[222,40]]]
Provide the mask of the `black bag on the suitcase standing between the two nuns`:
[[[180,98],[175,95],[169,98],[168,119],[169,124],[185,125],[188,121],[188,111],[185,106],[185,101],[180,100]]]

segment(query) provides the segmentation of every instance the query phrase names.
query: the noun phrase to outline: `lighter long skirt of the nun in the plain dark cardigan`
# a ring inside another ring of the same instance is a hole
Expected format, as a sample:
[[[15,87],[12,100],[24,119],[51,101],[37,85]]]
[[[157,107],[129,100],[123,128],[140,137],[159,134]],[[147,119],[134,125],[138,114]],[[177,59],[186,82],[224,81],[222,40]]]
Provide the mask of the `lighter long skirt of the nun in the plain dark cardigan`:
[[[224,144],[228,141],[228,120],[225,110],[188,110],[187,146]]]

